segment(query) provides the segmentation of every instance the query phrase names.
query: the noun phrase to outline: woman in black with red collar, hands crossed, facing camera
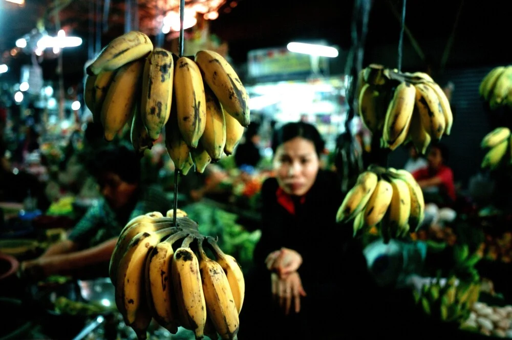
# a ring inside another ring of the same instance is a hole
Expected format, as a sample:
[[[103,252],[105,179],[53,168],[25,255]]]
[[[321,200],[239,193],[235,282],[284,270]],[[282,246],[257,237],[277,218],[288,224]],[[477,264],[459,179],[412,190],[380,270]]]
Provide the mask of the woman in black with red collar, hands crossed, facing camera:
[[[336,224],[343,200],[336,174],[319,169],[324,141],[308,123],[276,130],[272,150],[275,177],[261,189],[262,236],[245,281],[239,338],[339,338],[342,323],[364,315],[373,290],[352,227]],[[261,310],[268,313],[263,328]]]

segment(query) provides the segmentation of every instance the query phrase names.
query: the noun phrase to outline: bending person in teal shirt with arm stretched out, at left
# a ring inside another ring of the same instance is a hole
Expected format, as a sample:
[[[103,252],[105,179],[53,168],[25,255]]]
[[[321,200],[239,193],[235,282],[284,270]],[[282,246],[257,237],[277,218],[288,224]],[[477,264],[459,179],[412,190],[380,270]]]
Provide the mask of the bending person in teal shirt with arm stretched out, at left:
[[[48,276],[94,268],[96,276],[108,276],[117,237],[130,219],[150,211],[165,213],[171,206],[165,194],[140,185],[139,158],[124,146],[98,152],[91,172],[102,198],[71,230],[65,241],[50,246],[40,257],[22,263],[28,276]]]

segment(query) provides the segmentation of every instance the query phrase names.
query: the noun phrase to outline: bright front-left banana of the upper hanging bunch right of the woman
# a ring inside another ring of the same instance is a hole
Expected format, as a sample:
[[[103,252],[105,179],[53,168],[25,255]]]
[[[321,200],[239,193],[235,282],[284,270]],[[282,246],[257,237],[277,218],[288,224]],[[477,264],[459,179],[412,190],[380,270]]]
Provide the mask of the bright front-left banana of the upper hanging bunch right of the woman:
[[[400,83],[386,112],[382,136],[391,150],[396,149],[406,139],[414,110],[416,90],[414,85]]]

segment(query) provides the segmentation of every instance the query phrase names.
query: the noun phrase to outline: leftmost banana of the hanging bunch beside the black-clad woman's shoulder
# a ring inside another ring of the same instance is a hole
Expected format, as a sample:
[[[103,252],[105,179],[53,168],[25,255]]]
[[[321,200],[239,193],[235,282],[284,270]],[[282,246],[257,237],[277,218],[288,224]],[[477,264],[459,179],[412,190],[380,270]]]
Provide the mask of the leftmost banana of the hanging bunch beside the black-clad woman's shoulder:
[[[377,186],[378,177],[371,171],[362,172],[356,184],[345,196],[342,205],[336,213],[336,222],[345,222],[354,218],[370,200],[370,197]]]

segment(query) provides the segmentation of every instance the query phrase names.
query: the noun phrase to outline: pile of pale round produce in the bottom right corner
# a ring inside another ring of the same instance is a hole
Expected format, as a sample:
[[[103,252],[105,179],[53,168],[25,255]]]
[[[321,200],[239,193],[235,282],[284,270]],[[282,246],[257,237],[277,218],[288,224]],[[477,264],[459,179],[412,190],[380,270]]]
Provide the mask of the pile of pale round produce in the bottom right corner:
[[[488,306],[475,302],[470,316],[462,324],[462,329],[479,331],[484,335],[512,338],[512,306]]]

